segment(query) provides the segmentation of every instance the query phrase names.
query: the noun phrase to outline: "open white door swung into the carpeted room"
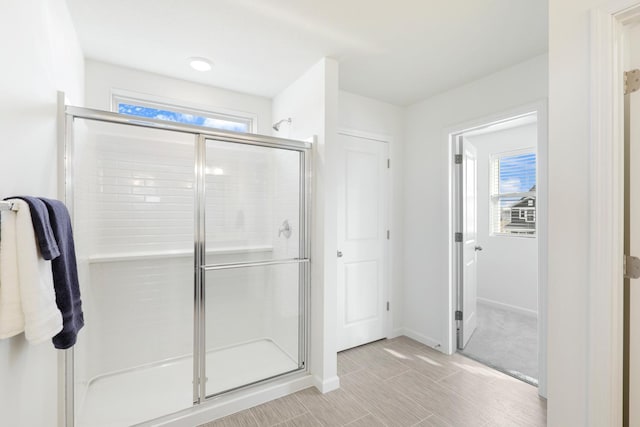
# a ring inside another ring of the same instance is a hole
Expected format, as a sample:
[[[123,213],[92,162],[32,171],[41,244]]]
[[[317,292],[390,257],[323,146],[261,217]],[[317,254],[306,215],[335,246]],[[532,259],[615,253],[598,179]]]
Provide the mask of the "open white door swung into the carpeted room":
[[[476,315],[478,296],[477,229],[478,229],[478,186],[477,153],[470,144],[463,145],[462,161],[462,348],[467,345],[478,324]]]

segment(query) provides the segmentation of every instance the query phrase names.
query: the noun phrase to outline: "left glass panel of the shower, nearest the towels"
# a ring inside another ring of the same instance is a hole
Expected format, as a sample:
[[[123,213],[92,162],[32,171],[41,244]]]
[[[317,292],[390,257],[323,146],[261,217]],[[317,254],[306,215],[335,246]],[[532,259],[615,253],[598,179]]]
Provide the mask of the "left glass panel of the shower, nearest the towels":
[[[76,118],[73,216],[86,326],[77,426],[193,404],[193,135]]]

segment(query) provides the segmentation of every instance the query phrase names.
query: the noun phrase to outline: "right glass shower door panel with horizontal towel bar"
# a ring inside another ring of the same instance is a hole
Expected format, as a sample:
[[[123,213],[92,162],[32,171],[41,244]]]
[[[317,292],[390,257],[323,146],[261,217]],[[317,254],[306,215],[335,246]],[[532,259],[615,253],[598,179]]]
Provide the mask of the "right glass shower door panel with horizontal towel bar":
[[[304,368],[305,153],[207,139],[206,396]]]

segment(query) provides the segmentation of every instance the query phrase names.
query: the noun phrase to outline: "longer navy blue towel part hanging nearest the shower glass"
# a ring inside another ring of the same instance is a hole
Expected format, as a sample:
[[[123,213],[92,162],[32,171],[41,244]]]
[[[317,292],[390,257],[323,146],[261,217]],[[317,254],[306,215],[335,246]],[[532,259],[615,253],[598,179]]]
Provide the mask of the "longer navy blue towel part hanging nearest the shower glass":
[[[56,304],[62,313],[62,331],[52,341],[55,348],[65,349],[76,343],[78,332],[84,326],[71,218],[62,202],[43,197],[40,200],[49,211],[53,235],[60,248],[60,256],[51,261],[51,270]]]

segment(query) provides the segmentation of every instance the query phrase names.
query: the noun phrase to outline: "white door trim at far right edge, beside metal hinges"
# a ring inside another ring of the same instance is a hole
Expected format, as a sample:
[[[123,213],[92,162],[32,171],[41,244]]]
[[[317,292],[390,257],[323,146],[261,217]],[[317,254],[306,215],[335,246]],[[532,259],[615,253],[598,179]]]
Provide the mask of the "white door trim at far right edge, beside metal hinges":
[[[638,0],[590,13],[589,425],[623,422],[624,27],[638,19]]]

